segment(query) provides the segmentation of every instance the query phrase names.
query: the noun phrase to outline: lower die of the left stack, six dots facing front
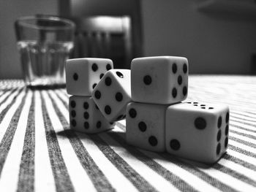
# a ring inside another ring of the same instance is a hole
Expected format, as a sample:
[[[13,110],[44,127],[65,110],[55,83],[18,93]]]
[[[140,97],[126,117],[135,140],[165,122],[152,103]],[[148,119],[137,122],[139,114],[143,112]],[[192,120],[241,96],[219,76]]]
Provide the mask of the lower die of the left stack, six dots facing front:
[[[69,122],[70,128],[87,134],[99,133],[114,126],[114,123],[108,123],[89,96],[69,97]]]

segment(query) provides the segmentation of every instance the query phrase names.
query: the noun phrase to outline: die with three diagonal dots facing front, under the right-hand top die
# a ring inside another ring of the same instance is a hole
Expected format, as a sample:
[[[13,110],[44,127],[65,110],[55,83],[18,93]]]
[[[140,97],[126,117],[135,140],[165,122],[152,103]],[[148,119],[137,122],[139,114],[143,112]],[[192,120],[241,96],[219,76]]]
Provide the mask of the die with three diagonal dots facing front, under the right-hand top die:
[[[126,137],[129,145],[165,151],[165,111],[167,105],[131,102],[127,105]]]

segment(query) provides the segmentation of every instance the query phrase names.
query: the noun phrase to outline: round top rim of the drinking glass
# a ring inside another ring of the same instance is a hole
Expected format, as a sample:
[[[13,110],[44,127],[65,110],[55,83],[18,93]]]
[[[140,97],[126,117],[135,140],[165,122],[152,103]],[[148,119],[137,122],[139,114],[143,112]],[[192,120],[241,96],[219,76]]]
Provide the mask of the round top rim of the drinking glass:
[[[59,21],[67,24],[67,26],[37,26],[37,24],[27,23],[28,20],[53,20]],[[50,15],[40,15],[37,16],[23,16],[18,18],[15,21],[16,24],[20,26],[25,26],[34,29],[41,29],[41,30],[64,30],[64,29],[75,29],[75,23],[72,20],[68,20],[65,18],[59,18],[57,16],[50,16]]]

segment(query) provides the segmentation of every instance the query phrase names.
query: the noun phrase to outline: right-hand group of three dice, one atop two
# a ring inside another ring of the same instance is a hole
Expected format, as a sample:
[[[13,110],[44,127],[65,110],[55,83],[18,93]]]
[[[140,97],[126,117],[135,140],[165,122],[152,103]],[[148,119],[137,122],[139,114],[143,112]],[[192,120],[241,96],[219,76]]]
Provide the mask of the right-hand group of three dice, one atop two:
[[[207,164],[227,150],[229,109],[181,102],[188,93],[187,58],[135,58],[132,102],[127,105],[127,142]]]

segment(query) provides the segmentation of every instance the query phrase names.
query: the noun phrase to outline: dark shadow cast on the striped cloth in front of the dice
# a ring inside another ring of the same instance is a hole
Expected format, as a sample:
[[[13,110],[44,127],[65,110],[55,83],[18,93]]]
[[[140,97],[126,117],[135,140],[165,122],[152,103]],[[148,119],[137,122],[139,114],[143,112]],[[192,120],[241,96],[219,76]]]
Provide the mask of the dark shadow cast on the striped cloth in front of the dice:
[[[101,147],[123,147],[127,153],[130,153],[133,157],[137,158],[139,161],[142,161],[145,164],[150,164],[150,162],[152,161],[167,161],[184,169],[219,169],[219,160],[214,164],[203,164],[197,161],[191,161],[186,158],[179,158],[176,155],[171,155],[166,152],[157,153],[129,145],[125,140],[125,132],[123,131],[106,130],[99,134],[84,134],[73,131],[72,129],[65,129],[64,131],[56,132],[56,134],[61,137],[67,137],[68,139],[73,141],[75,139],[77,139],[77,141],[83,141],[83,139],[88,140],[89,142],[97,145],[99,147],[99,150]],[[107,135],[108,139],[105,139],[105,134]],[[105,142],[105,140],[108,140],[108,142]]]

